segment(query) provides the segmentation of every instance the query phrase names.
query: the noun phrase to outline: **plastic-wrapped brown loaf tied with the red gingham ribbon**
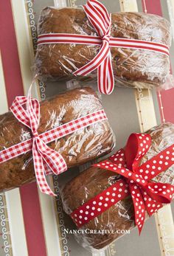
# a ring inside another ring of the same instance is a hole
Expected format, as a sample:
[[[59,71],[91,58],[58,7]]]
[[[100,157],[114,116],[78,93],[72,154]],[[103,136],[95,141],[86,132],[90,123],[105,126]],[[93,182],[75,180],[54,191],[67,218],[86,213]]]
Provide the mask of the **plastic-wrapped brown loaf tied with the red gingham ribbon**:
[[[102,104],[93,89],[74,89],[59,94],[41,103],[38,134],[100,109]],[[12,112],[0,115],[0,153],[4,148],[10,148],[29,138],[29,129],[18,122]],[[105,120],[57,139],[49,147],[63,156],[68,167],[73,167],[109,153],[114,148],[114,143],[114,134],[108,120]],[[35,172],[32,152],[0,164],[0,192],[33,180]]]

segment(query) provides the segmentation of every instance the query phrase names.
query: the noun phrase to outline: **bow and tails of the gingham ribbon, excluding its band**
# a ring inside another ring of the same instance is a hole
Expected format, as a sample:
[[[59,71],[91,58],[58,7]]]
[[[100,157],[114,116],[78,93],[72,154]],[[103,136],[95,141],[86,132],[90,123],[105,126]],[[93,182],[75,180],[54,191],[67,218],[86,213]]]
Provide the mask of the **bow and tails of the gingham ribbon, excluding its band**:
[[[35,176],[42,193],[55,196],[46,181],[46,174],[55,173],[58,175],[67,170],[66,162],[57,151],[49,148],[43,139],[38,135],[40,121],[40,104],[38,100],[32,99],[31,88],[27,97],[15,97],[10,110],[19,122],[26,125],[32,133],[32,157],[35,167]],[[26,105],[26,108],[24,108]],[[24,143],[23,143],[24,144]],[[24,147],[24,145],[21,145]],[[16,153],[20,148],[16,147]],[[15,153],[13,153],[15,154]]]

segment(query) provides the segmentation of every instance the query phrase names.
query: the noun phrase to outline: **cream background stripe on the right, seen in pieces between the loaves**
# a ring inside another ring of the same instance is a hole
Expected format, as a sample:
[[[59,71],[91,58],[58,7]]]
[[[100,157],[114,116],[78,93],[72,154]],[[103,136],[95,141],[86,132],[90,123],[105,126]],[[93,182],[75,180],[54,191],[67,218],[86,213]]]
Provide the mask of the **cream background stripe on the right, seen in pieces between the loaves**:
[[[128,12],[128,11],[138,11],[138,6],[136,0],[120,0],[121,10]],[[156,125],[156,114],[153,105],[153,97],[150,90],[147,89],[137,89],[135,90],[135,97],[136,97],[136,107],[139,116],[139,125],[140,130],[142,132],[146,131],[149,128],[152,128]],[[164,219],[167,219],[168,222],[161,222],[160,216],[164,216]],[[156,218],[156,229],[159,235],[159,245],[161,249],[161,255],[167,255],[167,251],[173,249],[173,243],[171,243],[174,236],[174,226],[173,226],[173,215],[171,211],[171,207],[167,206],[164,207],[159,213],[155,214]],[[162,224],[162,225],[161,225]],[[163,229],[167,232],[167,235],[164,237],[161,234],[164,234]],[[167,242],[167,243],[166,243]],[[168,250],[167,247],[169,246]],[[169,254],[170,255],[170,254]],[[172,255],[172,254],[171,254]]]

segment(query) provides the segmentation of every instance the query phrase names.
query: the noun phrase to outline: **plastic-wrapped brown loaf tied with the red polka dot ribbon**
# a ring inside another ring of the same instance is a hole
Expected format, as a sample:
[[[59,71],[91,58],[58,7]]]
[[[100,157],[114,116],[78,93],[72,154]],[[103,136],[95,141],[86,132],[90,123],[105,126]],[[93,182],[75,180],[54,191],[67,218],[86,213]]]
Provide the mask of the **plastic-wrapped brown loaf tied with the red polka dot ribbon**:
[[[165,123],[159,125],[148,131],[148,134],[152,137],[152,145],[143,157],[142,162],[146,162],[147,159],[152,158],[152,156],[174,144],[173,124]],[[103,170],[100,167],[91,167],[85,170],[66,184],[66,187],[61,191],[63,209],[70,215],[82,204],[97,196],[97,194],[119,179],[120,176],[116,175],[116,173],[110,170]],[[153,180],[174,184],[174,165],[167,171],[160,173]],[[113,234],[111,230],[126,231],[132,229],[134,226],[133,202],[131,197],[128,196],[81,227],[81,229],[105,229],[110,231],[110,233],[105,233],[104,235],[80,233],[80,235],[77,235],[77,241],[88,248],[101,249],[122,235],[122,233]]]

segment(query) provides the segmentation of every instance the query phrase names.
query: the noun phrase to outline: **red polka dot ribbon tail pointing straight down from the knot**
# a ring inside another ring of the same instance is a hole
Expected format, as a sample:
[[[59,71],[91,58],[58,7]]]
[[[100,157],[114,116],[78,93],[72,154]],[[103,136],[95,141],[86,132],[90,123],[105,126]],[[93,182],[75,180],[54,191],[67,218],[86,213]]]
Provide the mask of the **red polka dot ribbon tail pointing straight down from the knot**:
[[[142,232],[142,227],[145,223],[145,202],[142,197],[141,189],[137,184],[129,184],[129,189],[135,210],[135,223],[139,229],[140,235]]]

